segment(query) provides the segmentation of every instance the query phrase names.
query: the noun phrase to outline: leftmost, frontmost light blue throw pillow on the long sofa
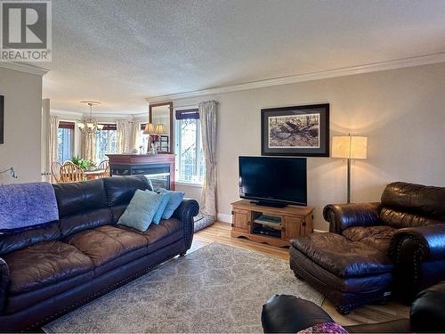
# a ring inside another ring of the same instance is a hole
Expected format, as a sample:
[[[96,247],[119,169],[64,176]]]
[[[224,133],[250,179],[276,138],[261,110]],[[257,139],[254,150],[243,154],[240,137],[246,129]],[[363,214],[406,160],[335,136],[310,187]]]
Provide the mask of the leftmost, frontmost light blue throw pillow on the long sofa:
[[[162,194],[160,193],[138,189],[134,192],[133,199],[130,200],[130,204],[128,204],[125,212],[120,216],[117,224],[133,227],[141,232],[147,231],[161,200]]]

